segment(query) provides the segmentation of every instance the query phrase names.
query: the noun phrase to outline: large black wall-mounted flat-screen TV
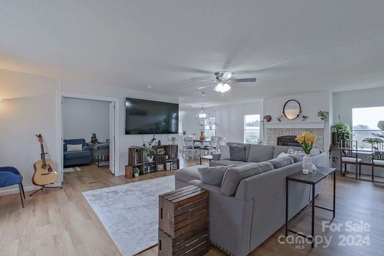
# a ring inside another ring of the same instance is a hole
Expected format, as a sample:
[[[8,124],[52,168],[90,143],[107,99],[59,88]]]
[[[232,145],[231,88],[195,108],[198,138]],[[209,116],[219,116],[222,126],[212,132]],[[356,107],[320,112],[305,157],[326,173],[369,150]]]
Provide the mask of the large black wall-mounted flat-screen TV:
[[[126,98],[125,134],[178,133],[179,104]]]

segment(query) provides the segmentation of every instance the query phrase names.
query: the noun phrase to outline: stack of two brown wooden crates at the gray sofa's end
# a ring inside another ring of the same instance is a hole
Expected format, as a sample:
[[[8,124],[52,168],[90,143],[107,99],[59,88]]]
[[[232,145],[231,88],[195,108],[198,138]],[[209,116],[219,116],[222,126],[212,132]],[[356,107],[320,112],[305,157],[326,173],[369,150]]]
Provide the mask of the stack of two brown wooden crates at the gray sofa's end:
[[[197,186],[159,196],[159,256],[208,252],[208,196],[208,190]]]

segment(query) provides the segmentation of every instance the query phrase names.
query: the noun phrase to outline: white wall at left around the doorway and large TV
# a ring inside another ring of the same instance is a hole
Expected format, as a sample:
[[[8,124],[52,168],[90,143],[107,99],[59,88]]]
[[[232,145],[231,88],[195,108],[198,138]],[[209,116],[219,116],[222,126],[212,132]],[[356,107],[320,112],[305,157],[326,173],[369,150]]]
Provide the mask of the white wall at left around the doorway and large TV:
[[[151,135],[125,135],[125,98],[141,98],[179,103],[179,98],[157,93],[136,91],[113,86],[83,83],[71,80],[60,80],[46,76],[0,70],[0,140],[11,141],[7,148],[0,150],[0,163],[12,165],[22,173],[25,190],[38,187],[31,183],[33,163],[40,159],[40,147],[34,133],[41,133],[45,138],[47,158],[53,160],[56,168],[58,157],[56,150],[56,91],[83,93],[89,95],[109,96],[120,99],[119,150],[120,163],[116,171],[124,174],[128,163],[128,148],[131,145],[141,145],[151,138]],[[25,98],[20,98],[25,97]],[[12,140],[10,140],[12,138]],[[14,139],[15,138],[15,143]],[[157,136],[165,141],[167,135]],[[105,138],[104,138],[105,139]],[[36,147],[36,148],[35,148]],[[23,159],[23,160],[21,160]],[[17,193],[18,188],[1,188],[0,194]]]

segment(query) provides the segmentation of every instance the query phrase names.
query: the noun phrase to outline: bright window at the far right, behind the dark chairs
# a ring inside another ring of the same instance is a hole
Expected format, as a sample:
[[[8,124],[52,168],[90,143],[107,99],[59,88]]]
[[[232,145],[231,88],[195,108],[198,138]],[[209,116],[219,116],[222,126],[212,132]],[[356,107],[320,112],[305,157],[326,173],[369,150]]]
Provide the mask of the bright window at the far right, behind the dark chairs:
[[[371,144],[362,140],[372,137],[371,133],[380,133],[377,123],[383,120],[384,106],[352,109],[352,138],[358,141],[359,149],[371,149]]]

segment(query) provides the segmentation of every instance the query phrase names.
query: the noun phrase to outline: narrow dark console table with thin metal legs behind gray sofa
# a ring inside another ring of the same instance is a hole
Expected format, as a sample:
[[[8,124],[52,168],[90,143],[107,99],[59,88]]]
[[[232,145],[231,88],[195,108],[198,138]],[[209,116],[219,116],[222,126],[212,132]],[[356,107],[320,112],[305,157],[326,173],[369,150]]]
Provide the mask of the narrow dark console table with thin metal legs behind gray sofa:
[[[335,168],[328,168],[328,167],[323,167],[323,166],[316,166],[316,168],[319,169],[319,171],[313,171],[312,173],[308,174],[303,174],[301,171],[291,174],[289,176],[286,176],[285,180],[285,189],[286,189],[286,196],[285,196],[285,236],[288,236],[288,231],[300,236],[303,236],[305,238],[311,239],[311,247],[313,248],[314,246],[314,208],[318,207],[327,211],[332,211],[333,212],[333,218],[335,217],[335,191],[336,191],[336,172]],[[333,173],[333,209],[328,209],[322,206],[317,206],[314,204],[314,186],[319,183],[320,181],[324,180],[326,178],[325,174],[330,174]],[[295,221],[293,221],[289,226],[288,226],[288,181],[295,181],[295,182],[300,182],[300,183],[305,183],[305,184],[310,184],[312,186],[312,206],[306,209],[306,211],[301,214]],[[290,229],[290,227],[296,223],[301,217],[304,216],[310,209],[312,209],[312,227],[311,227],[311,236],[305,236],[302,234],[298,234],[298,232],[293,231]]]

